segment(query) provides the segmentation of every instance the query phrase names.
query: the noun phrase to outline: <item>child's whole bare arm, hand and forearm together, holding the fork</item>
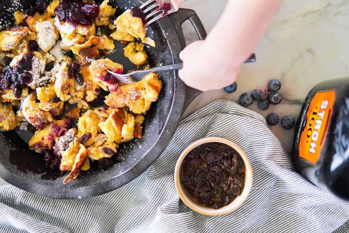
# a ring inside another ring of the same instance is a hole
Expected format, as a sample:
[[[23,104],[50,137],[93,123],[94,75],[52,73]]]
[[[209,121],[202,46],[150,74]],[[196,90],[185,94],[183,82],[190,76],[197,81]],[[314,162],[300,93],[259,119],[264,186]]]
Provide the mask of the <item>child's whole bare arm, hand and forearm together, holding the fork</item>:
[[[232,84],[281,4],[282,0],[228,1],[205,41],[194,42],[179,54],[179,77],[202,91]]]

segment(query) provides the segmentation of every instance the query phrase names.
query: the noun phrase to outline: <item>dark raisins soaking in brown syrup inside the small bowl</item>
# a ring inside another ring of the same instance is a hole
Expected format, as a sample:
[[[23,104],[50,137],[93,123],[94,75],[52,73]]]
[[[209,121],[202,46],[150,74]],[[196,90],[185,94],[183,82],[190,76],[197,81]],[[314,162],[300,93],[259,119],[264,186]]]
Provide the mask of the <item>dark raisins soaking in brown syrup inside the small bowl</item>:
[[[245,165],[237,151],[223,143],[195,147],[180,167],[184,192],[195,203],[219,209],[242,194]]]

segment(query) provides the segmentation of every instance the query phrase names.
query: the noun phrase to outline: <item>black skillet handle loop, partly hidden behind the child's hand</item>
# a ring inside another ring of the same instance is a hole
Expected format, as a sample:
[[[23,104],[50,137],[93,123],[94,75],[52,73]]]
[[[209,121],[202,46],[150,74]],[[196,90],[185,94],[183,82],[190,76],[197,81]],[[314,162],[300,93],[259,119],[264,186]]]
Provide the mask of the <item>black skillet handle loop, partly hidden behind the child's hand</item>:
[[[199,19],[199,16],[195,13],[194,10],[180,8],[178,12],[170,14],[169,17],[174,29],[177,32],[182,49],[184,49],[186,46],[182,29],[182,23],[184,23],[186,20],[190,20],[200,40],[206,38],[206,30],[203,27],[203,24]],[[200,90],[186,86],[183,112],[188,107],[188,105],[195,99],[195,97],[198,96],[200,93],[202,93]]]

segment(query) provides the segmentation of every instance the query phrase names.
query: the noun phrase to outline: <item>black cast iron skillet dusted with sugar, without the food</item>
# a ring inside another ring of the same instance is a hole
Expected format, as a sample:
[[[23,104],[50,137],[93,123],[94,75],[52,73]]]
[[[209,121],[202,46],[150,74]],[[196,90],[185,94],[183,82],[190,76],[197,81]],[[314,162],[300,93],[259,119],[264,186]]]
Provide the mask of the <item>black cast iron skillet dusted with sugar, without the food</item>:
[[[29,10],[35,5],[30,0],[20,0],[20,2],[25,7],[17,3],[13,6],[12,1],[0,3],[0,26],[7,27],[8,25],[4,25],[4,22],[13,21],[12,15],[16,9]],[[142,1],[110,0],[110,4],[117,6],[121,14],[125,9],[134,5],[140,6]],[[181,24],[186,20],[191,21],[200,39],[206,37],[205,28],[198,15],[190,9],[180,9],[177,13],[163,17],[148,26],[147,36],[156,42],[155,48],[147,48],[151,66],[168,65],[181,61],[178,54],[185,47]],[[116,47],[120,50],[123,45],[116,42]],[[134,68],[129,60],[124,58],[122,52],[114,53],[109,58],[123,64],[126,71]],[[28,136],[23,136],[23,131],[18,132],[17,130],[17,132],[10,131],[0,134],[1,178],[28,192],[60,199],[98,196],[132,181],[155,162],[171,140],[183,111],[200,94],[200,91],[187,87],[178,78],[177,72],[163,72],[160,76],[163,88],[158,101],[151,105],[146,115],[142,139],[135,139],[120,145],[118,153],[114,155],[115,162],[110,167],[82,171],[78,179],[68,184],[63,184],[64,176],[54,181],[45,180],[52,174],[46,173],[47,168],[42,160],[43,155],[29,150],[25,142],[25,140],[28,141]]]

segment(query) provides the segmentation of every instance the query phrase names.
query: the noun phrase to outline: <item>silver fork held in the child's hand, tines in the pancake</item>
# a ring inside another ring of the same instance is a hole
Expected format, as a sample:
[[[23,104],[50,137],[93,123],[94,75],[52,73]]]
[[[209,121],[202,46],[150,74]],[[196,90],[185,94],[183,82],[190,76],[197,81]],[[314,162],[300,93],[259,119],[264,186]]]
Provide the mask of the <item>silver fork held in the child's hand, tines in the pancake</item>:
[[[256,55],[252,53],[251,56],[244,63],[251,63],[255,61],[256,61]],[[167,66],[159,66],[159,67],[150,68],[148,70],[133,71],[128,74],[117,74],[117,73],[111,72],[110,70],[107,70],[107,72],[113,75],[120,82],[134,83],[134,82],[141,81],[147,74],[151,72],[180,70],[181,68],[183,68],[183,63],[172,64]]]

